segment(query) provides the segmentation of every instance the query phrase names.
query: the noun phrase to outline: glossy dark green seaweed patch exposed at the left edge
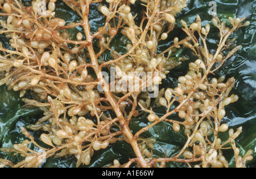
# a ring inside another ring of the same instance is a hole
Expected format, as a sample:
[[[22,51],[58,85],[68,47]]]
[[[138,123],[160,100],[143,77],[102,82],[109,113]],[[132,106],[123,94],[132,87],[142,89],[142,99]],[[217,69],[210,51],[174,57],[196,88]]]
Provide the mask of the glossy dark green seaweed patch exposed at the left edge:
[[[24,140],[20,127],[25,127],[39,117],[38,109],[25,109],[24,102],[19,98],[19,92],[7,90],[0,86],[0,148],[13,147],[13,144]],[[0,152],[0,157],[20,160],[19,156],[11,156]]]

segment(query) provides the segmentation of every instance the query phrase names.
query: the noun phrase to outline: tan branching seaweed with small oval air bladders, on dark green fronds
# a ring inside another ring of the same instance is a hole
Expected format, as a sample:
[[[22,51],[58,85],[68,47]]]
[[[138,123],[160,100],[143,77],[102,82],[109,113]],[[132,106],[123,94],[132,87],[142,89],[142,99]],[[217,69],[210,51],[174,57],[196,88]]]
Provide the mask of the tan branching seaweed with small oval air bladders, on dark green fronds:
[[[213,15],[212,23],[203,26],[197,15],[191,24],[181,20],[184,38],[170,40],[175,16],[187,2],[63,0],[79,17],[67,23],[55,13],[59,1],[0,0],[0,34],[10,45],[0,45],[0,85],[19,91],[24,108],[42,111],[35,123],[20,128],[26,139],[1,148],[22,160],[14,164],[0,159],[0,166],[39,167],[49,157],[71,156],[77,167],[89,165],[96,152],[118,142],[129,145],[134,157],[117,157],[105,166],[165,167],[174,162],[229,167],[226,150],[233,151],[237,167],[246,166],[253,156],[252,150],[241,155],[236,145],[242,127],[229,129],[222,121],[225,107],[239,100],[230,94],[236,80],[214,72],[241,49],[232,33],[250,22],[229,17],[226,23]],[[92,8],[105,21],[97,29],[89,20]],[[212,27],[219,32],[219,42],[209,51]],[[122,51],[113,46],[117,39],[127,42]],[[160,49],[168,39],[168,48]],[[188,71],[177,78],[175,88],[161,85],[182,63],[188,64]],[[162,115],[155,110],[160,108]],[[132,130],[133,121],[142,116],[145,125]],[[161,123],[185,138],[172,156],[154,155],[158,138],[144,135]],[[40,132],[40,139],[33,131]],[[223,140],[219,136],[226,131],[228,138]]]

